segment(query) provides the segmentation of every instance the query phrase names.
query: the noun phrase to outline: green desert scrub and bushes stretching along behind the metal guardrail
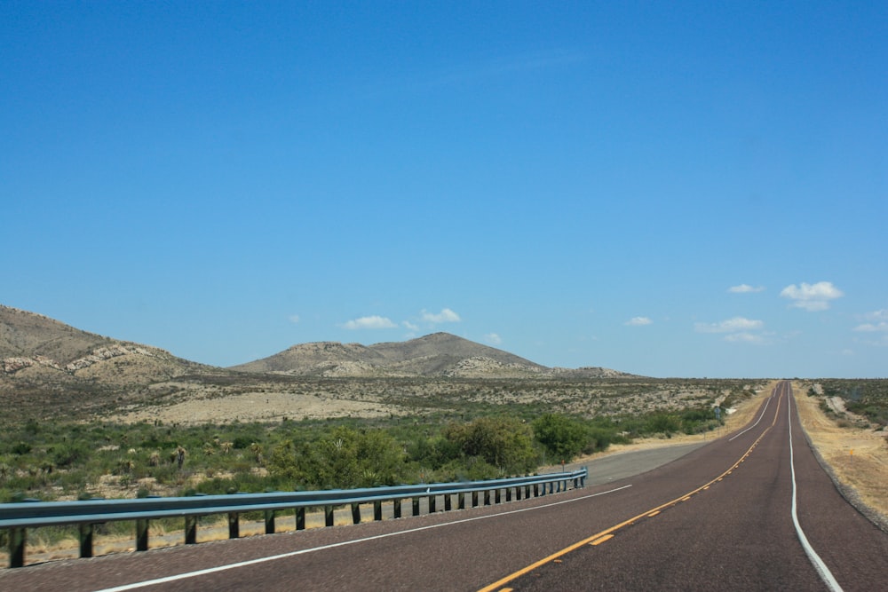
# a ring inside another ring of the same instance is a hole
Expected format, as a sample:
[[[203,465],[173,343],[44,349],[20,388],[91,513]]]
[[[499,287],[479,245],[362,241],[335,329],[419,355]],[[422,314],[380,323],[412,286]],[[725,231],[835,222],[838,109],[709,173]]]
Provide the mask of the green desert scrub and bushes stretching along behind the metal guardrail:
[[[569,405],[499,403],[434,395],[414,414],[384,418],[119,423],[27,418],[0,425],[0,501],[347,488],[496,478],[570,462],[633,438],[713,430],[716,406],[753,394],[731,383],[702,390],[686,407],[639,411],[617,396],[598,413]],[[662,392],[658,391],[658,392]],[[668,391],[667,391],[668,392]],[[568,404],[582,393],[571,394]],[[623,393],[624,394],[624,393]],[[662,395],[658,395],[662,396]],[[718,403],[717,403],[718,399]],[[404,401],[400,404],[403,406]],[[548,409],[547,409],[548,407]]]

